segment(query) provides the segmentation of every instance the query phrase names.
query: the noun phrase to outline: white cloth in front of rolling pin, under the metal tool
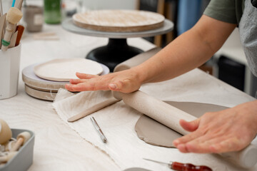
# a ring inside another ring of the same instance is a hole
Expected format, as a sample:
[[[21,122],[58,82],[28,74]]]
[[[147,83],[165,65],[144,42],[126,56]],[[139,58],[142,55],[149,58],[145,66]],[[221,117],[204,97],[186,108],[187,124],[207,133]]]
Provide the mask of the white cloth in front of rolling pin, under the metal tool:
[[[76,133],[79,133],[82,138],[99,147],[99,149],[104,150],[121,167],[121,170],[129,167],[143,167],[149,170],[170,170],[168,167],[151,164],[143,160],[143,157],[162,161],[168,159],[179,162],[193,162],[195,165],[208,165],[213,170],[225,170],[224,165],[217,165],[217,162],[221,164],[226,161],[220,160],[219,157],[214,155],[181,154],[175,148],[148,145],[140,140],[136,135],[134,127],[138,118],[141,117],[141,113],[124,104],[123,101],[90,115],[96,118],[96,121],[106,135],[108,139],[106,144],[101,142],[99,134],[94,129],[89,116],[74,123],[67,122],[67,119],[71,116],[110,97],[110,91],[81,92],[73,95],[64,89],[60,89],[53,106],[65,123],[74,129]]]

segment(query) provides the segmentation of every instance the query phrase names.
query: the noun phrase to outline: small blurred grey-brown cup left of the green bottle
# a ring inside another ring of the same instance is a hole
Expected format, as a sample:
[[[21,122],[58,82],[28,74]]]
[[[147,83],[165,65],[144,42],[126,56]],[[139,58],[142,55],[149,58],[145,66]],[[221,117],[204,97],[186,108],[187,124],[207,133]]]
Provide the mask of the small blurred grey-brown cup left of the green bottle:
[[[43,7],[24,6],[24,21],[26,22],[26,31],[41,31],[44,24]]]

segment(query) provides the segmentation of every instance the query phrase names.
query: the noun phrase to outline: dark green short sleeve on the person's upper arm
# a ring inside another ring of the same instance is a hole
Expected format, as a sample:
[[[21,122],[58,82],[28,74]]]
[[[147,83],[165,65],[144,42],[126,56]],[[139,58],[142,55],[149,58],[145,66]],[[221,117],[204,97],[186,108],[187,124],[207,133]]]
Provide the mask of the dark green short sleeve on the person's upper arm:
[[[219,21],[238,24],[235,0],[211,0],[203,14]]]

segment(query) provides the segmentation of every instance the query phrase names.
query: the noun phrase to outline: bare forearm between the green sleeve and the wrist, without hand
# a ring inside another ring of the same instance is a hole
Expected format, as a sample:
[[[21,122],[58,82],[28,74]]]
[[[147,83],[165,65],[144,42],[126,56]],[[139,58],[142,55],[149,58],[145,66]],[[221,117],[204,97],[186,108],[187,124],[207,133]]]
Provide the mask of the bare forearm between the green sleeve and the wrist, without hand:
[[[176,38],[162,51],[145,63],[133,68],[139,73],[141,83],[153,83],[175,78],[208,61],[226,41],[235,26],[229,26],[228,31],[216,36],[218,29],[217,32],[208,30],[209,27],[206,28],[205,26],[208,25],[206,18],[209,20],[207,16],[203,16],[201,20],[204,21],[200,20],[199,24]]]

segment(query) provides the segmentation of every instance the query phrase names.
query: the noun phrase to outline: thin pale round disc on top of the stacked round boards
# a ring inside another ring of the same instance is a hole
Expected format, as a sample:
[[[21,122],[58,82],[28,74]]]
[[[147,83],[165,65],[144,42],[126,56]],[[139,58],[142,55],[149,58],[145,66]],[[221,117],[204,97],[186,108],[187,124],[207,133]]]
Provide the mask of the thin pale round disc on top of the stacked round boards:
[[[96,61],[85,58],[59,58],[34,67],[34,73],[49,81],[78,79],[76,72],[99,75],[103,68]]]

